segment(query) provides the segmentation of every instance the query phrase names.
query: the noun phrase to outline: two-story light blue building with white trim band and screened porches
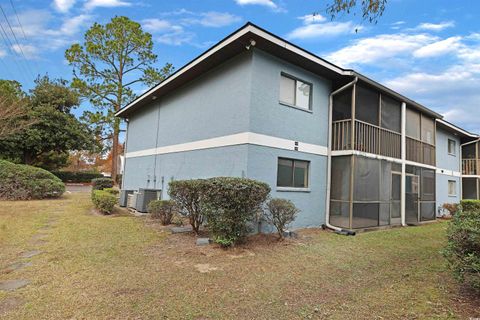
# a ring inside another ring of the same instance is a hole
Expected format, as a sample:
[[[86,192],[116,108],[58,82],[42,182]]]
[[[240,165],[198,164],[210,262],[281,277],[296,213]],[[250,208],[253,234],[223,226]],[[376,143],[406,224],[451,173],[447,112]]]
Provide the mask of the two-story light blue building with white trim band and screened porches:
[[[165,198],[171,180],[257,179],[300,208],[294,228],[434,220],[450,200],[436,198],[438,168],[460,185],[443,148],[453,137],[460,161],[462,140],[441,115],[250,23],[116,115],[123,189]]]

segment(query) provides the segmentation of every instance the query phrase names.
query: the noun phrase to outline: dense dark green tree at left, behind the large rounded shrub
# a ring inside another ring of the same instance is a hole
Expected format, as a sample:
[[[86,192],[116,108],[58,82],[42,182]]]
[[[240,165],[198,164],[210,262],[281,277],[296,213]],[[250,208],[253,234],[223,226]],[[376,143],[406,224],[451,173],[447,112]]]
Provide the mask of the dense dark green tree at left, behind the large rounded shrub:
[[[71,150],[92,150],[95,139],[88,125],[70,111],[79,104],[78,94],[65,80],[47,76],[35,80],[27,96],[27,129],[0,141],[3,158],[48,170],[64,167]]]

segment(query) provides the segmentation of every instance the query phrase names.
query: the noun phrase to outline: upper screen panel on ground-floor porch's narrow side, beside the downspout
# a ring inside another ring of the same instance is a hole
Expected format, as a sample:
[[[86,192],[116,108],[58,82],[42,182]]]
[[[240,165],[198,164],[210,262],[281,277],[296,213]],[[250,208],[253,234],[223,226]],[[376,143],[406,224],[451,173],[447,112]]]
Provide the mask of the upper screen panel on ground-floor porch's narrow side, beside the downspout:
[[[332,157],[331,199],[350,200],[351,157]]]

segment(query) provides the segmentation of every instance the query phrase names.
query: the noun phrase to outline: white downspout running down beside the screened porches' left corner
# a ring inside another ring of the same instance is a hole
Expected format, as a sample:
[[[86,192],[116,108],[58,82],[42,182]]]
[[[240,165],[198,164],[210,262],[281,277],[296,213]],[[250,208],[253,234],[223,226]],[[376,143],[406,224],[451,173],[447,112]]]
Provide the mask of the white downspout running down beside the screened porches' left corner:
[[[340,234],[345,235],[355,235],[354,232],[350,230],[345,230],[330,224],[330,190],[332,184],[332,119],[333,119],[333,96],[337,93],[340,93],[349,87],[355,85],[358,82],[358,77],[355,77],[352,82],[347,83],[343,87],[335,90],[329,96],[329,103],[328,103],[328,141],[327,141],[327,195],[326,195],[326,203],[325,203],[325,225],[327,228],[335,230]]]

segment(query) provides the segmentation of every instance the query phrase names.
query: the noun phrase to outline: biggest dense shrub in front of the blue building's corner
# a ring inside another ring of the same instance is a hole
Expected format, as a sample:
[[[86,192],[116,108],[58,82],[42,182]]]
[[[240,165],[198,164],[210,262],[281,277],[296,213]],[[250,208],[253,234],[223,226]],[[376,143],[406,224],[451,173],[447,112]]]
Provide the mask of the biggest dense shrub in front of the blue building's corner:
[[[204,180],[202,190],[208,229],[224,247],[245,239],[270,193],[266,183],[231,177]]]

